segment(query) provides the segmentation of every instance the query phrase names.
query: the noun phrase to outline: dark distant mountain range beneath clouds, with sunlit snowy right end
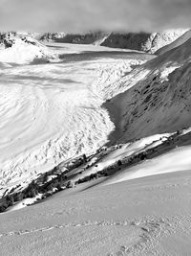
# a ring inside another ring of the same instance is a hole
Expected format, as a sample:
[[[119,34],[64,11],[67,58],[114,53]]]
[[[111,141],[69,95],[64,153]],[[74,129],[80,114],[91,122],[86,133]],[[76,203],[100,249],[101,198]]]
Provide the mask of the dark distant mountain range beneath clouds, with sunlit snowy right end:
[[[96,44],[112,48],[138,50],[155,53],[159,48],[173,42],[187,30],[166,30],[159,33],[105,33],[94,32],[87,34],[45,33],[38,39],[75,44]]]

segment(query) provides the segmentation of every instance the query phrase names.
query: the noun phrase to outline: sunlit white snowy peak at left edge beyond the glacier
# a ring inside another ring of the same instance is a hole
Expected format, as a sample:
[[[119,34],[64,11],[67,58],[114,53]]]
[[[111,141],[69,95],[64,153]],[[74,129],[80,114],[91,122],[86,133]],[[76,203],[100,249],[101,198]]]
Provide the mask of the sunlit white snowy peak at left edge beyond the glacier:
[[[50,61],[56,56],[46,46],[30,36],[11,36],[0,46],[0,61],[4,63],[24,64],[41,59]]]

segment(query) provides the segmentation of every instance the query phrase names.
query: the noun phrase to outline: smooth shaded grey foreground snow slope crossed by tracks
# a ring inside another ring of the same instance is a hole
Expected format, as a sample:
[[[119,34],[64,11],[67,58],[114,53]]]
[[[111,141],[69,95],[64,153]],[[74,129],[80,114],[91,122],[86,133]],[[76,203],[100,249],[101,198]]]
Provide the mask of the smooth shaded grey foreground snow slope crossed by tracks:
[[[190,255],[190,172],[67,190],[0,215],[1,255]]]

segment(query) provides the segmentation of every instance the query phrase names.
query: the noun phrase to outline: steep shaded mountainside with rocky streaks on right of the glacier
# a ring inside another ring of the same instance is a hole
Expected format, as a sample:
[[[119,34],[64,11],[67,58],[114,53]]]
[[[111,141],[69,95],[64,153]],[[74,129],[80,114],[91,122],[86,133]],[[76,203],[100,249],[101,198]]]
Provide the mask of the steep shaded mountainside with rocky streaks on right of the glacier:
[[[148,61],[133,71],[132,81],[122,79],[129,89],[108,104],[120,142],[191,126],[190,44]]]

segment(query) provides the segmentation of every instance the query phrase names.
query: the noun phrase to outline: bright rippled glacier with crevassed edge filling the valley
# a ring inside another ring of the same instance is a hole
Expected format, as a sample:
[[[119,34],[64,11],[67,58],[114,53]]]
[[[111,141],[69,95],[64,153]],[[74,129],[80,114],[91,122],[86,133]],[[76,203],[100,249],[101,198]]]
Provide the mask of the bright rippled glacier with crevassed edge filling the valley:
[[[145,59],[133,52],[109,53],[0,69],[1,186],[32,178],[107,142],[115,127],[101,105],[114,92],[104,88],[111,84],[116,91],[114,81]]]

